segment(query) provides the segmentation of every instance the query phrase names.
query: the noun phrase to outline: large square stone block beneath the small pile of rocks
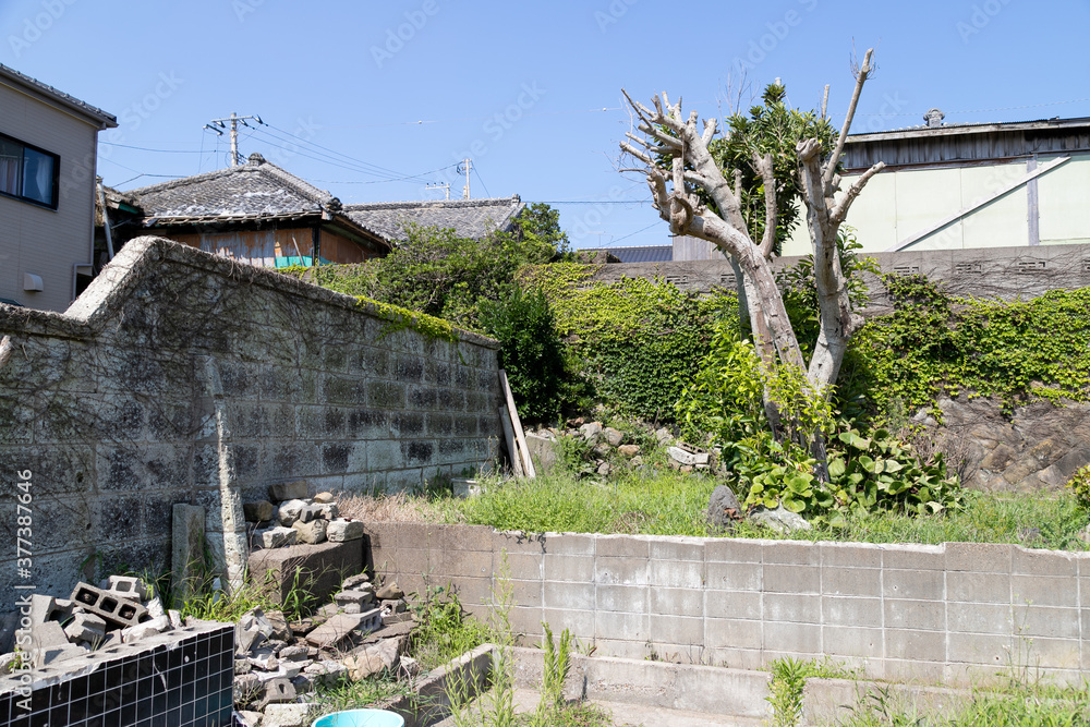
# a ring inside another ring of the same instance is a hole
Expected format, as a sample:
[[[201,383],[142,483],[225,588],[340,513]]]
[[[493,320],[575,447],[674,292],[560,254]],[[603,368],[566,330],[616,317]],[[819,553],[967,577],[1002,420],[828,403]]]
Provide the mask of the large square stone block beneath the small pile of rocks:
[[[294,533],[294,531],[291,531]],[[257,582],[271,578],[271,596],[283,603],[293,587],[304,589],[315,599],[328,601],[340,590],[343,573],[363,570],[363,541],[291,545],[257,550],[250,556],[250,573]],[[298,575],[296,575],[298,573]]]

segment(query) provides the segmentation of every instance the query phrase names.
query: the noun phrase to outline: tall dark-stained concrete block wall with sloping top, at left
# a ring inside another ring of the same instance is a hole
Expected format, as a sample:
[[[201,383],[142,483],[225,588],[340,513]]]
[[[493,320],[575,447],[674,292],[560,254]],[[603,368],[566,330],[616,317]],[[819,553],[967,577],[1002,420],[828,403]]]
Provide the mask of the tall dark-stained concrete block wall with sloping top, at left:
[[[169,568],[178,502],[205,507],[223,560],[245,548],[241,502],[272,482],[400,489],[475,470],[500,436],[497,344],[455,334],[153,238],[64,314],[0,306],[0,611],[16,582],[66,597],[100,565]]]

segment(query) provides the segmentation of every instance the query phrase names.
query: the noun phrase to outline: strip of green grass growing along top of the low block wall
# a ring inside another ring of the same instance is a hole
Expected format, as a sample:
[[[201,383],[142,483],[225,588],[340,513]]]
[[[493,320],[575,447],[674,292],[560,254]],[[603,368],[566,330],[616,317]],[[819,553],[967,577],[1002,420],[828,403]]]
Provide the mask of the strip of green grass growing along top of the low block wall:
[[[625,472],[605,483],[568,474],[536,480],[491,480],[472,499],[441,498],[424,502],[413,519],[492,525],[525,532],[632,533],[710,536],[704,514],[713,477],[657,471],[653,476]],[[814,528],[779,535],[743,522],[732,537],[838,541],[859,543],[1020,543],[1028,547],[1085,550],[1087,511],[1068,492],[995,495],[966,493],[965,508],[937,516],[888,512],[853,514],[844,528]],[[384,508],[378,508],[384,509]],[[392,511],[385,508],[386,511]],[[396,519],[396,518],[395,518]]]

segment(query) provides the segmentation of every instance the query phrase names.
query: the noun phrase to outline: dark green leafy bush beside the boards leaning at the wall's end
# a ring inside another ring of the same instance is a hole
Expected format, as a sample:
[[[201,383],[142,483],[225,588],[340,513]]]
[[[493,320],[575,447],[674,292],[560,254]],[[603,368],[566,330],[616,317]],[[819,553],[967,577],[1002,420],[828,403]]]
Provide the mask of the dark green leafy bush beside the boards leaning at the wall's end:
[[[555,421],[569,364],[548,300],[538,291],[516,288],[500,302],[482,302],[481,325],[500,343],[499,365],[507,371],[519,415],[529,422]]]

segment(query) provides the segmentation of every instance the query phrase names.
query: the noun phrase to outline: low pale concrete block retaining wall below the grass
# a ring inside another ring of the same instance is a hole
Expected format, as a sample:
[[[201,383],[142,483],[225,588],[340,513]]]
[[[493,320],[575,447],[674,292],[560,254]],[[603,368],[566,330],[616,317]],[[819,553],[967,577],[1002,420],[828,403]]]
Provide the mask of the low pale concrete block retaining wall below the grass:
[[[421,593],[449,583],[475,613],[506,562],[530,641],[544,620],[602,655],[735,668],[827,654],[874,679],[947,683],[1090,669],[1090,554],[367,526],[384,578]]]

